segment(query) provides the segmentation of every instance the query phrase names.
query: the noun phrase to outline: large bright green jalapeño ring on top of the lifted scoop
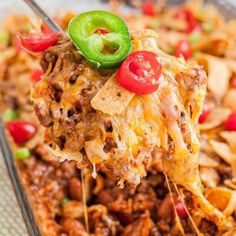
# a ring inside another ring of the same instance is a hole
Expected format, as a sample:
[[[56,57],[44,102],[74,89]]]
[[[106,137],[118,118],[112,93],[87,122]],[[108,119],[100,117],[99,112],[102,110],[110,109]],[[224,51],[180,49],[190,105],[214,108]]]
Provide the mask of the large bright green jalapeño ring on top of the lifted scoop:
[[[100,28],[108,33],[99,34]],[[89,11],[76,16],[68,33],[79,51],[97,68],[117,68],[132,49],[125,22],[109,12]]]

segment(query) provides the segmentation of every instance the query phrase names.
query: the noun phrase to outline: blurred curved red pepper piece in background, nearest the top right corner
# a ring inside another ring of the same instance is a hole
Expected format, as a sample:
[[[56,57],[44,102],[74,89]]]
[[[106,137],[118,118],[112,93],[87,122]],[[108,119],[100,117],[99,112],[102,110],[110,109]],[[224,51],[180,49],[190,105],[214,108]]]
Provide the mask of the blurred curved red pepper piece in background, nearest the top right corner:
[[[197,22],[193,13],[187,8],[179,8],[178,11],[175,13],[175,18],[187,22],[187,26],[185,29],[186,33],[191,33],[193,31],[201,31],[200,24]]]

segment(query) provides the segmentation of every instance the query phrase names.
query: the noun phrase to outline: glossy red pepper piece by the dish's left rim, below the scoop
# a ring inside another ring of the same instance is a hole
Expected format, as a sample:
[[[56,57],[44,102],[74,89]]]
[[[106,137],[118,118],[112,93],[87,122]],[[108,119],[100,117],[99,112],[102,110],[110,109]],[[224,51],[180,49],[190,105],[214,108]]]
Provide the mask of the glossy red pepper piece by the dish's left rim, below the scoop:
[[[37,131],[34,124],[24,120],[13,120],[7,122],[7,129],[17,144],[26,143]]]

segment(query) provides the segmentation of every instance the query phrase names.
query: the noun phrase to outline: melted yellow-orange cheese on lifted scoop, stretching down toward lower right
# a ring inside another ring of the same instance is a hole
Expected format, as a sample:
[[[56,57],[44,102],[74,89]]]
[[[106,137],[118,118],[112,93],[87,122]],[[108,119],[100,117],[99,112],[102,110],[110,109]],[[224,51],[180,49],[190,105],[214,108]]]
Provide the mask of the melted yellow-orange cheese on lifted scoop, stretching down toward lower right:
[[[95,167],[95,164],[102,162],[111,167],[112,174],[120,178],[118,184],[123,187],[125,181],[134,185],[139,184],[141,178],[146,175],[147,162],[151,162],[152,152],[157,147],[162,148],[165,174],[173,182],[184,186],[195,195],[207,218],[218,226],[227,225],[225,216],[206,201],[200,190],[201,181],[198,173],[200,144],[197,121],[206,92],[204,72],[195,63],[187,64],[183,59],[170,57],[161,52],[156,44],[155,33],[152,31],[135,33],[132,38],[135,50],[146,50],[157,54],[157,59],[163,67],[158,90],[146,96],[136,96],[117,84],[115,73],[107,81],[102,81],[96,70],[86,67],[75,87],[79,86],[77,90],[79,93],[82,88],[86,89],[86,85],[91,84],[94,97],[87,108],[92,106],[97,112],[92,115],[87,113],[88,117],[85,117],[87,119],[70,129],[67,129],[65,122],[62,134],[66,132],[69,138],[62,155],[67,152],[76,155],[76,151],[80,152],[83,147],[92,165]],[[59,59],[58,61],[60,62]],[[56,72],[57,65],[56,69],[54,68]],[[71,67],[74,68],[73,65]],[[63,74],[55,75],[54,71],[53,76],[54,80],[59,80],[60,83],[68,77],[63,78]],[[62,132],[60,108],[65,108],[66,113],[78,96],[73,86],[65,87],[66,91],[61,102],[51,101],[50,104],[54,112],[54,125],[51,129],[56,137]],[[41,92],[45,94],[45,87],[43,89]],[[37,103],[37,99],[41,102],[42,93],[37,94],[37,89],[35,91],[36,94],[33,94],[35,102]],[[45,103],[50,103],[50,99],[48,97],[49,101]],[[110,137],[118,147],[108,152],[104,151],[107,136],[107,132],[104,131],[106,120],[112,124]],[[90,130],[95,137],[83,141],[80,143],[81,148],[76,149],[79,146],[76,137],[80,132],[83,131],[81,135],[86,135]],[[73,144],[69,145],[70,150],[67,149],[68,143]]]

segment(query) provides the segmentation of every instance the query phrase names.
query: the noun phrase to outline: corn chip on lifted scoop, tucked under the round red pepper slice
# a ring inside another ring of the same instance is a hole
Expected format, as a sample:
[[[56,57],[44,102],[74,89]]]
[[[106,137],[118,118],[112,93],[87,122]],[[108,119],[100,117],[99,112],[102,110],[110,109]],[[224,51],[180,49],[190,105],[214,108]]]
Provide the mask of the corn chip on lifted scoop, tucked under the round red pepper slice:
[[[95,110],[109,115],[121,114],[135,96],[134,93],[122,88],[112,76],[91,100]]]

